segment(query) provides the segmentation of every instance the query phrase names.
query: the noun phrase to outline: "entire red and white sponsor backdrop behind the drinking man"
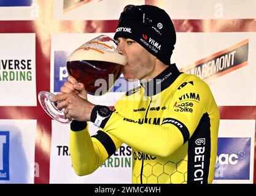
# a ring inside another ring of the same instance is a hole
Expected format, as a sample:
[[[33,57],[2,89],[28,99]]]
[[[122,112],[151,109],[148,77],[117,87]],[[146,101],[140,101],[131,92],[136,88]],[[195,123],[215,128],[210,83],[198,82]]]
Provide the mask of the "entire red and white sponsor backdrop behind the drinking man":
[[[69,125],[53,121],[37,100],[39,91],[60,91],[73,50],[100,34],[114,36],[127,4],[169,13],[177,31],[171,62],[214,94],[221,116],[214,183],[256,183],[255,0],[0,1],[0,183],[131,183],[126,145],[95,173],[77,176]],[[112,108],[136,85],[121,75],[107,94],[88,99]]]

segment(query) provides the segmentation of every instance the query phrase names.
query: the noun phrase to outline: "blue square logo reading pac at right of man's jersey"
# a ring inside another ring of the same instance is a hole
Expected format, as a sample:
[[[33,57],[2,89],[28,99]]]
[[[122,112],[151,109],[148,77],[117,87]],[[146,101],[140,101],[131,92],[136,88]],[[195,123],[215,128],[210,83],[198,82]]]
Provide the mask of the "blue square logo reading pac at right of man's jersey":
[[[214,179],[249,179],[250,138],[219,138]]]

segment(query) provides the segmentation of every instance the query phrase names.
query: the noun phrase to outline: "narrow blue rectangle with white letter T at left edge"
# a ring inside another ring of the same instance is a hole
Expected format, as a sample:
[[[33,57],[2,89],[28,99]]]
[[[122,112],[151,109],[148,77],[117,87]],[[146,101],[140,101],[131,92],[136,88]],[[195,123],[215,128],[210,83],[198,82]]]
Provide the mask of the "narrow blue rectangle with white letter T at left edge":
[[[0,131],[0,180],[9,180],[9,131]]]

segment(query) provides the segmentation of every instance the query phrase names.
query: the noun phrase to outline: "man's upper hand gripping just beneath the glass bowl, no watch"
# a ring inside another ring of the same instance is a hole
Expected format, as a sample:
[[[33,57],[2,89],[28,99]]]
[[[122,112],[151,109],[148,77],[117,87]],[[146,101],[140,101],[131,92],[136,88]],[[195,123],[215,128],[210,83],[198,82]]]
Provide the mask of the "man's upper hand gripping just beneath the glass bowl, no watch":
[[[66,81],[64,85],[61,86],[60,94],[63,94],[63,92],[72,92],[74,94],[77,94],[82,99],[87,100],[87,91],[85,90],[85,86],[83,85],[83,83],[78,83],[77,80],[72,76],[69,76],[68,81]]]

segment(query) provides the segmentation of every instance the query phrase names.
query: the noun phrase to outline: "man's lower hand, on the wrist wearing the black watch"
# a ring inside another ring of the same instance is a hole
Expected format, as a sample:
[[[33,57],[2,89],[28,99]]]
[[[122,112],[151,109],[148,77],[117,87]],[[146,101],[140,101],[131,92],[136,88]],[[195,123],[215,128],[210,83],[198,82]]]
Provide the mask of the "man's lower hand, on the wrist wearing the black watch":
[[[94,104],[88,102],[88,100],[82,99],[78,94],[74,92],[63,92],[62,94],[56,94],[53,97],[53,102],[62,102],[58,103],[58,109],[64,109],[64,114],[66,118],[76,121],[90,121],[91,111],[95,107]]]

